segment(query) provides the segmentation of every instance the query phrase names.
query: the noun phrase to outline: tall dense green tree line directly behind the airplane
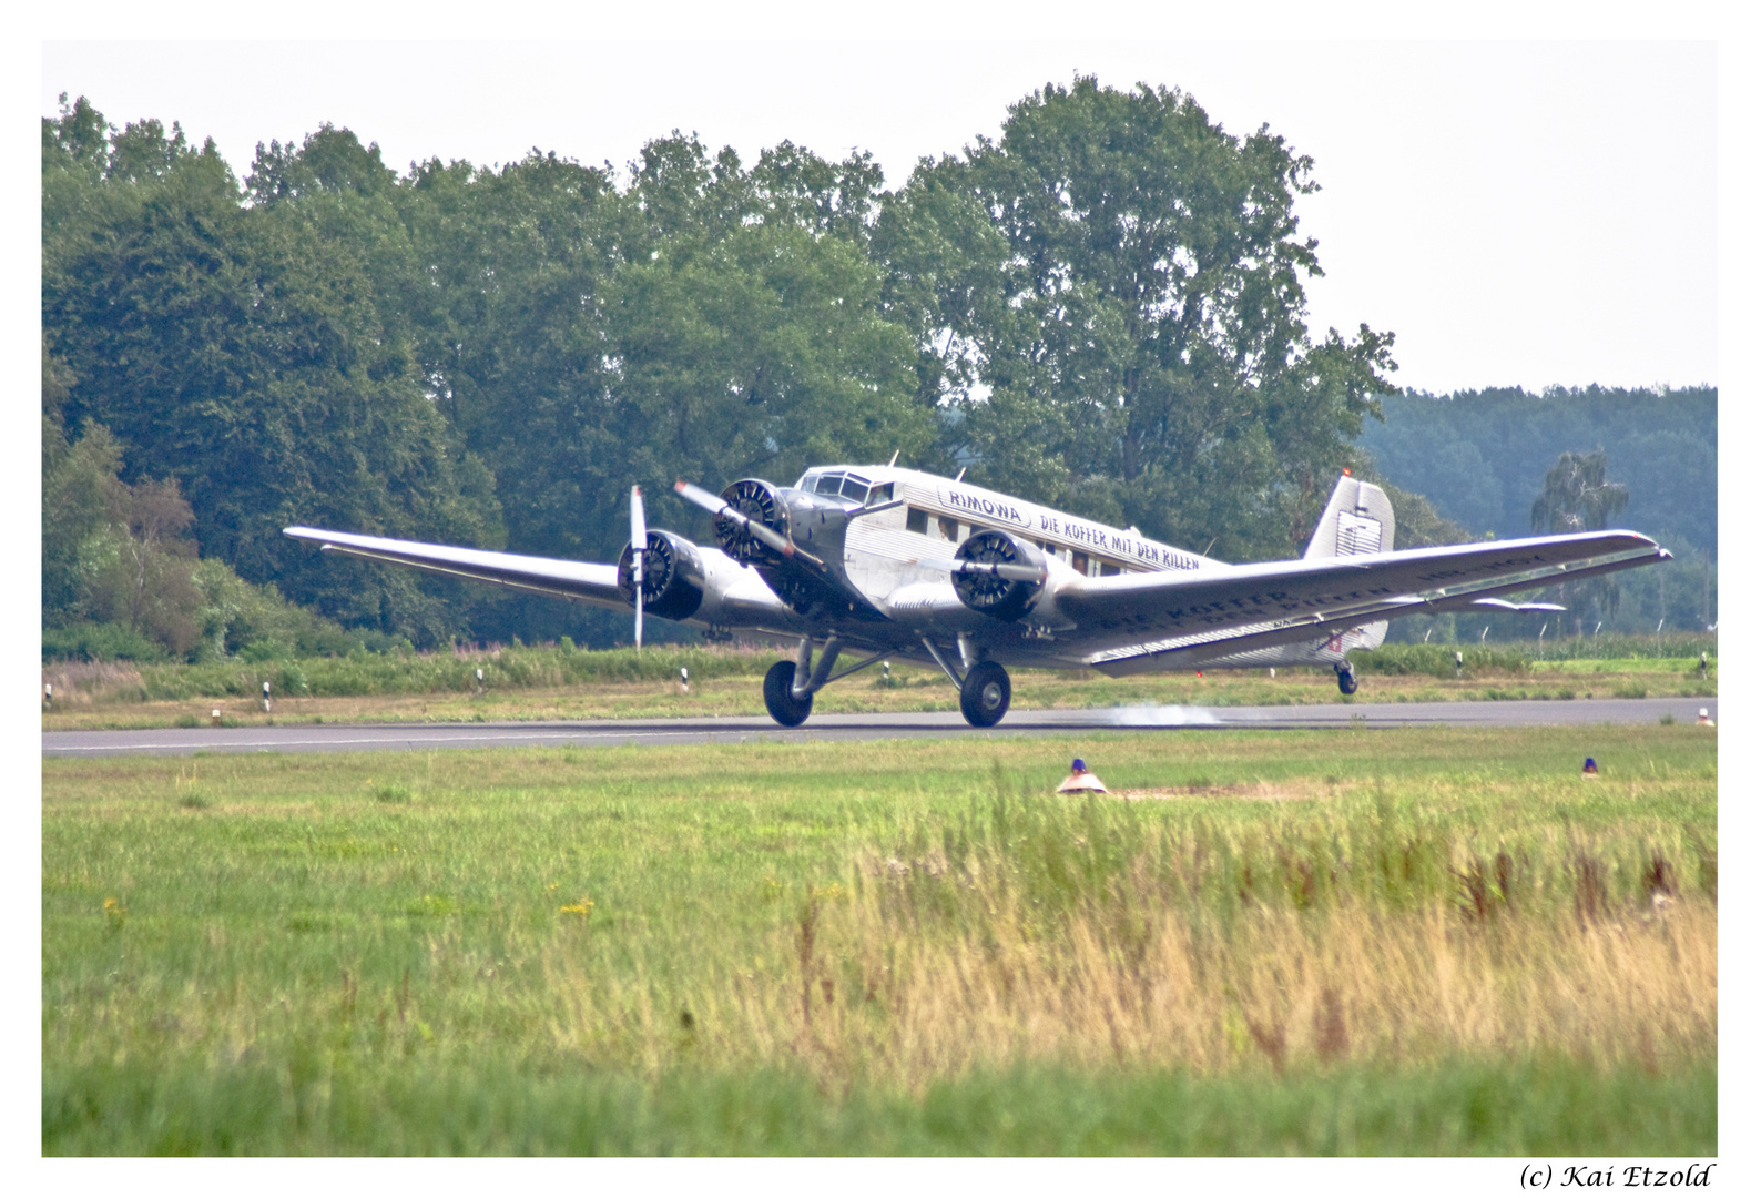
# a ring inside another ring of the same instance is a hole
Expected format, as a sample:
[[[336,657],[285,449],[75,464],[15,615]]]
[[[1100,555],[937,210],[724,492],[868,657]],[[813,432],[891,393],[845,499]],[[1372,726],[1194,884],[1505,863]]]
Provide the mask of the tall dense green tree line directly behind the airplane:
[[[891,192],[865,153],[745,164],[678,132],[625,171],[534,150],[398,173],[326,125],[259,144],[239,178],[211,143],[81,99],[42,122],[46,488],[67,458],[113,500],[174,499],[164,553],[417,645],[623,622],[280,529],[611,560],[630,484],[701,537],[674,477],[900,451],[1219,557],[1289,557],[1338,469],[1370,465],[1352,442],[1393,370],[1391,335],[1303,322],[1312,174],[1189,95],[1083,78]],[[1467,536],[1423,490],[1396,493],[1404,539]],[[46,622],[185,652],[144,606],[95,597],[77,546],[141,529],[76,492],[51,513],[46,490]]]

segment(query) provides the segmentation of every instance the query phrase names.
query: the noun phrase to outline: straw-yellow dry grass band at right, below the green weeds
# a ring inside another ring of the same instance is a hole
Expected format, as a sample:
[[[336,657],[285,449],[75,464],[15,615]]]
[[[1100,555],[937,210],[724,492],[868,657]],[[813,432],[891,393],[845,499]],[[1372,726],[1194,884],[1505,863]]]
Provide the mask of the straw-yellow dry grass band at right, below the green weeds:
[[[1587,930],[1342,909],[1264,913],[1229,937],[1164,916],[1122,941],[1078,918],[1055,948],[1007,932],[914,943],[856,904],[821,913],[814,939],[794,978],[775,965],[799,934],[768,967],[713,962],[683,985],[556,950],[556,1043],[655,1071],[805,1062],[914,1091],[1020,1061],[1226,1073],[1566,1054],[1664,1068],[1717,1043],[1701,902]]]

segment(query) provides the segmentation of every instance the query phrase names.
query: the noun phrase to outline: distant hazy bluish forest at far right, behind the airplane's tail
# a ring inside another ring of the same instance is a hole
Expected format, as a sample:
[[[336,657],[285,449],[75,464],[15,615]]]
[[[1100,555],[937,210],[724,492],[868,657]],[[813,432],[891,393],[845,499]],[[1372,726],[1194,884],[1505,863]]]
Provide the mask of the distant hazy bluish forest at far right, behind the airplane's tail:
[[[1717,388],[1409,391],[1382,396],[1381,405],[1384,419],[1365,421],[1358,446],[1382,477],[1423,495],[1472,539],[1534,536],[1532,507],[1548,469],[1564,453],[1606,451],[1608,481],[1627,488],[1625,509],[1610,527],[1655,537],[1676,560],[1617,574],[1613,604],[1573,606],[1587,606],[1604,631],[1650,632],[1659,618],[1676,629],[1717,622]],[[1469,622],[1460,617],[1446,629]],[[1541,624],[1506,618],[1492,634],[1534,636]],[[1418,638],[1426,627],[1409,620],[1396,631]],[[1592,629],[1594,620],[1585,631]]]

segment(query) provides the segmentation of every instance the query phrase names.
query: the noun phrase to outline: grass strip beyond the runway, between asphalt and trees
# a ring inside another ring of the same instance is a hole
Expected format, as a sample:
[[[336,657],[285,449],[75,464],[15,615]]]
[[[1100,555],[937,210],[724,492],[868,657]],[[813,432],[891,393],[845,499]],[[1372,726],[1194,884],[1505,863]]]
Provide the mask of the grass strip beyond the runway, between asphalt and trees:
[[[1585,657],[1536,659],[1534,647],[1388,645],[1354,657],[1359,689],[1338,692],[1331,669],[1171,671],[1106,678],[1085,669],[1016,669],[1018,710],[1138,705],[1287,706],[1305,703],[1440,703],[1455,699],[1573,699],[1715,696],[1717,657],[1701,677],[1710,638],[1580,641]],[[1551,652],[1553,647],[1550,647]],[[1615,650],[1631,650],[1622,655]],[[215,661],[134,666],[51,662],[44,731],[206,726],[218,708],[227,726],[264,722],[470,722],[629,717],[764,715],[771,648],[576,650],[507,648],[483,654],[356,654],[301,661]],[[680,685],[680,668],[690,685]],[[483,669],[479,687],[475,671]],[[262,684],[273,712],[262,710]],[[814,699],[819,714],[954,712],[960,694],[935,668],[891,664],[840,680]]]

